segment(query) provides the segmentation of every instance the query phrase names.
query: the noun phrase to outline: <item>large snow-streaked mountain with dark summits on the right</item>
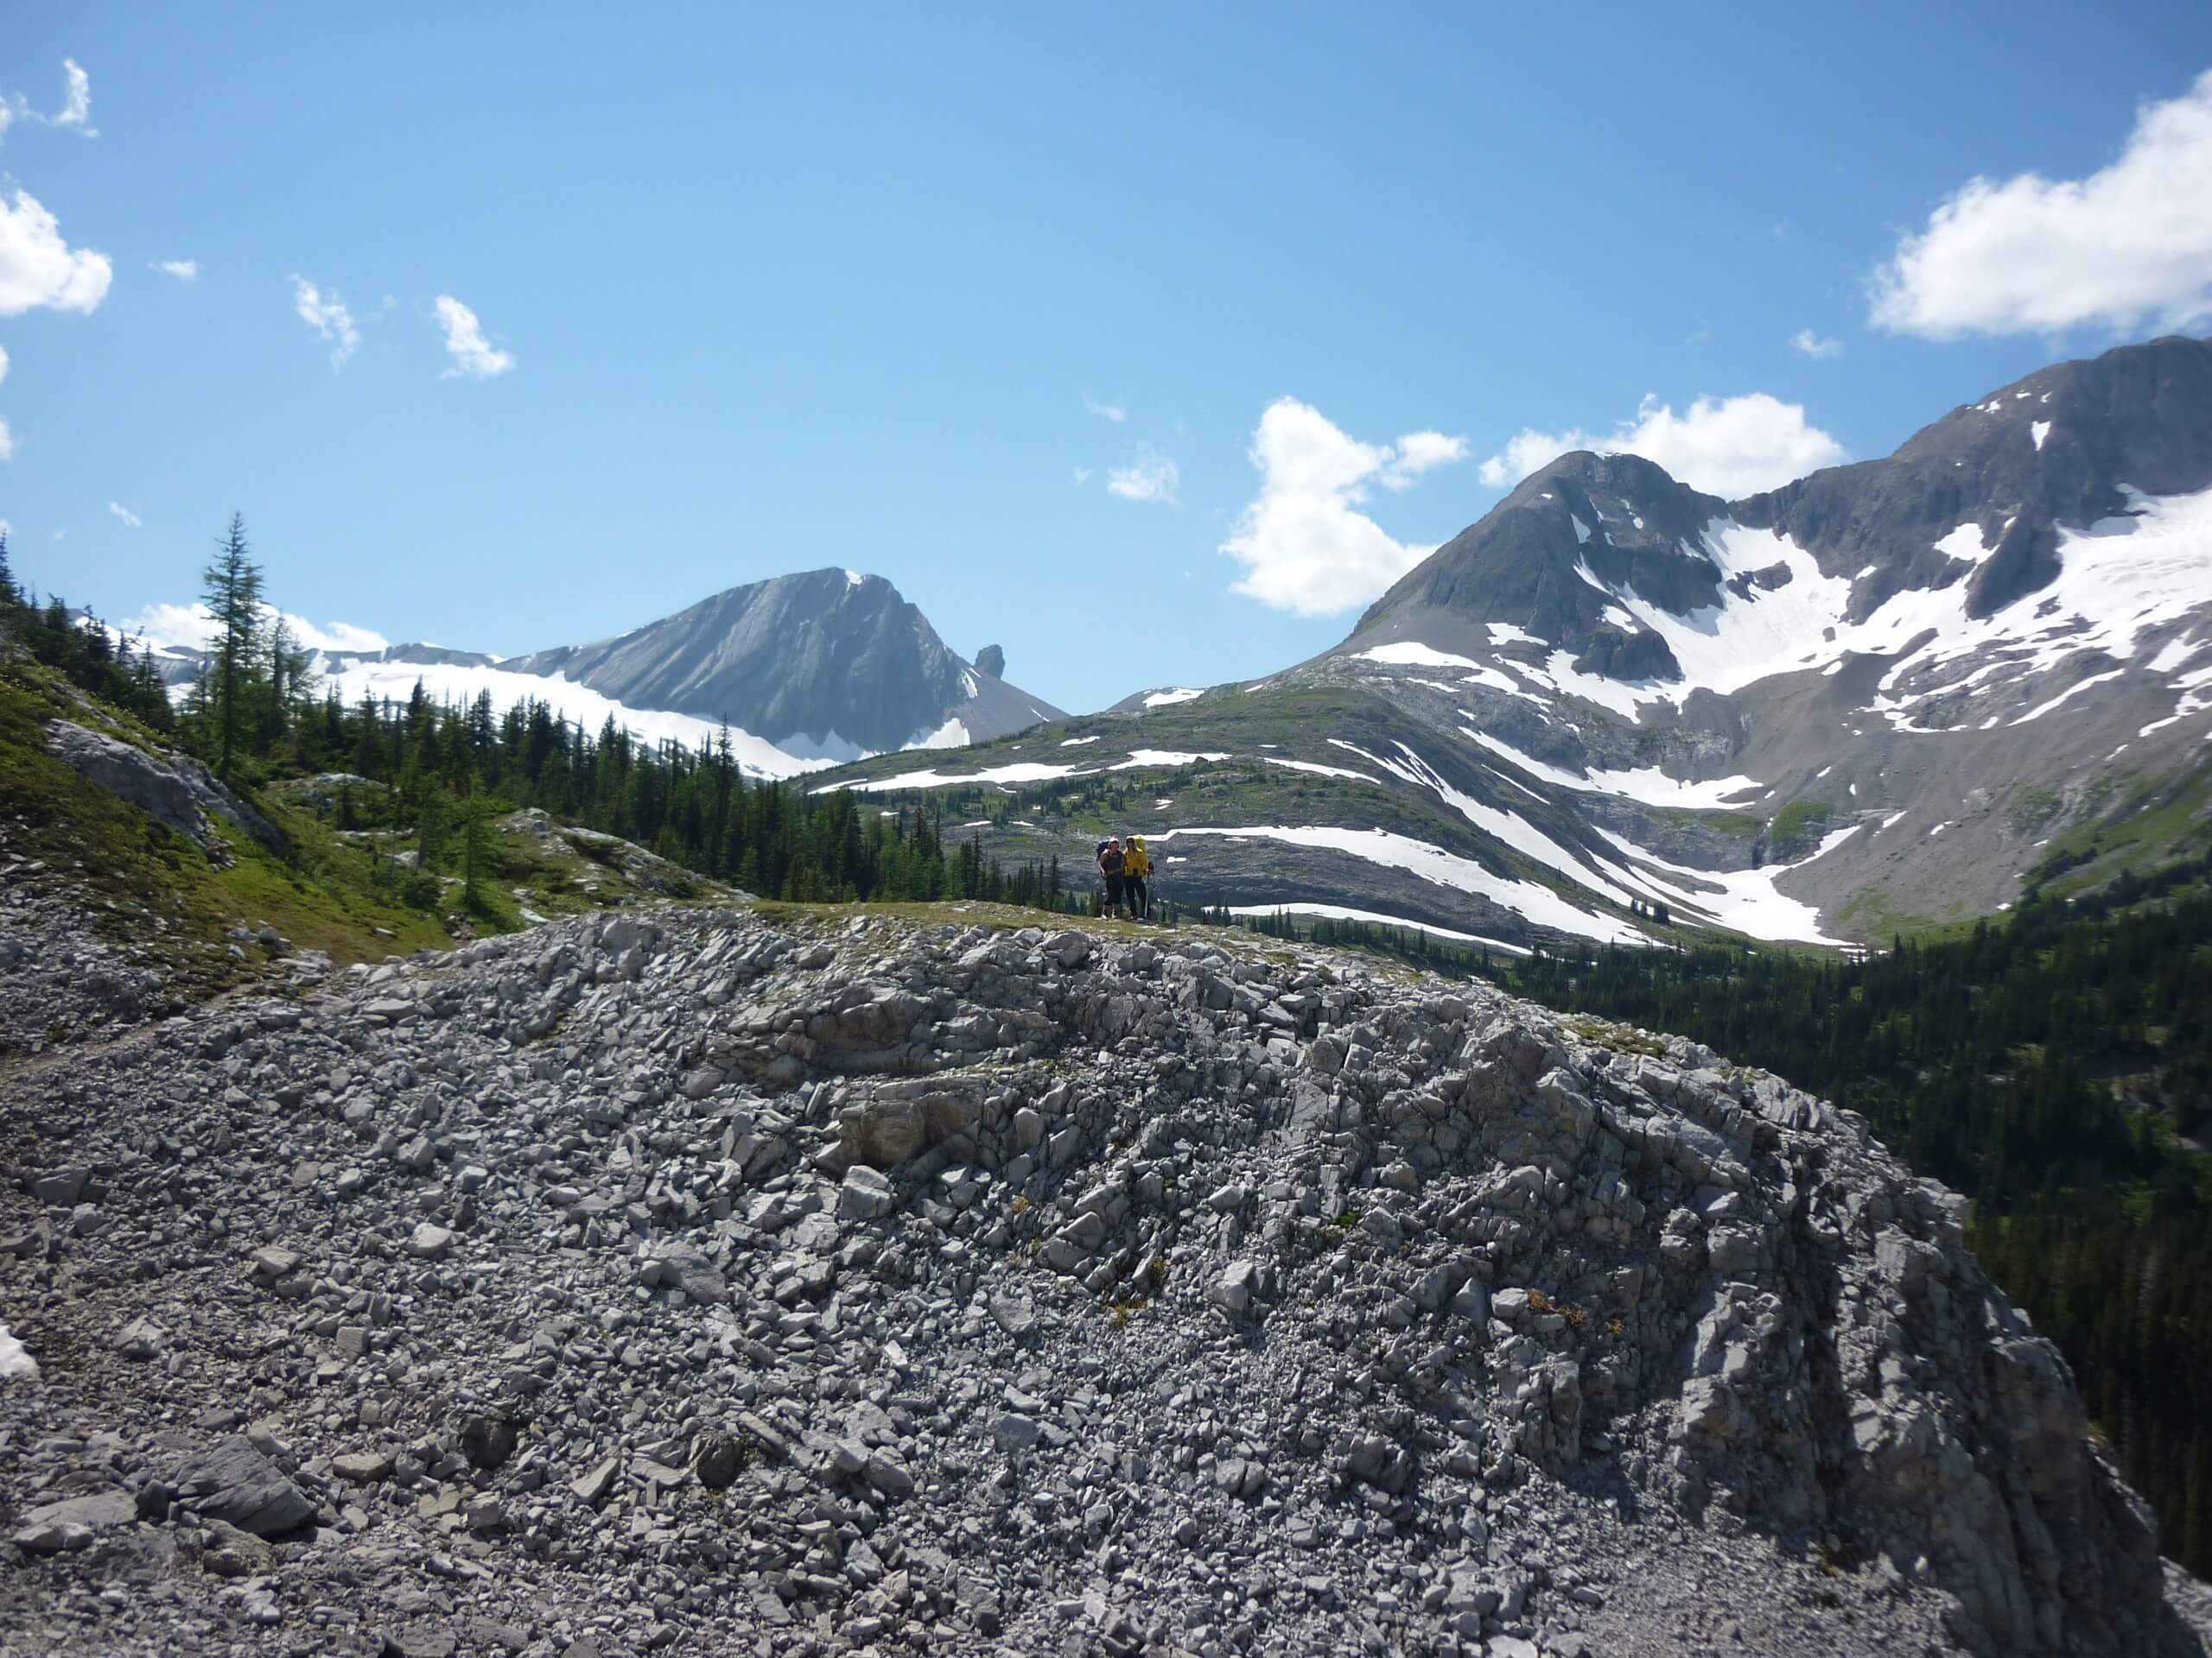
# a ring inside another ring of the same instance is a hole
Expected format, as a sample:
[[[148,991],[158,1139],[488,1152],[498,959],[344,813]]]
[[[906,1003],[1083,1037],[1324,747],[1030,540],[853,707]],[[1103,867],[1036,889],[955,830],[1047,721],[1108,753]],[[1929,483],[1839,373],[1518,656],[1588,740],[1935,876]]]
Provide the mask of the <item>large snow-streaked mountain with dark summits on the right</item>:
[[[1818,942],[2201,838],[2208,734],[2212,345],[2166,338],[1741,502],[1562,455],[1321,659],[929,776],[1157,780],[1124,816],[1203,902]]]

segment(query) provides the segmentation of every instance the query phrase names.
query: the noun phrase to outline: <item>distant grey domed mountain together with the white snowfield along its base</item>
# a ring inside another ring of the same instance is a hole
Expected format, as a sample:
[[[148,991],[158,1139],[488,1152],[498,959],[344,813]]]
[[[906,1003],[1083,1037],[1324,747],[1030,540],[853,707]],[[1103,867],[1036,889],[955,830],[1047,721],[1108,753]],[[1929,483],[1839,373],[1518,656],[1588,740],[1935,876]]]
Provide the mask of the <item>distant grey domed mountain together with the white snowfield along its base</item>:
[[[153,641],[170,683],[206,654]],[[312,668],[343,701],[434,701],[489,692],[495,707],[535,699],[586,730],[608,718],[648,741],[714,741],[721,723],[757,776],[794,776],[863,754],[949,747],[1018,732],[1060,710],[1000,679],[1006,654],[953,654],[929,619],[880,575],[807,570],[717,592],[617,639],[529,657],[445,646],[316,652]]]

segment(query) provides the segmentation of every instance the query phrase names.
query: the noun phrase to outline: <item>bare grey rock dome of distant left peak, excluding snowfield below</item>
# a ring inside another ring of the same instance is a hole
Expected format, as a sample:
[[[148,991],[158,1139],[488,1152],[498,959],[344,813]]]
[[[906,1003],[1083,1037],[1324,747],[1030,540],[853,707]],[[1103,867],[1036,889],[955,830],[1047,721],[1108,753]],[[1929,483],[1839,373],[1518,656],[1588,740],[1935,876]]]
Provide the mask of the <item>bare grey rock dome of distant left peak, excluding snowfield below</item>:
[[[982,743],[1062,716],[960,661],[889,581],[845,570],[730,588],[619,639],[502,668],[566,674],[628,707],[728,718],[792,752],[898,749],[947,721]]]

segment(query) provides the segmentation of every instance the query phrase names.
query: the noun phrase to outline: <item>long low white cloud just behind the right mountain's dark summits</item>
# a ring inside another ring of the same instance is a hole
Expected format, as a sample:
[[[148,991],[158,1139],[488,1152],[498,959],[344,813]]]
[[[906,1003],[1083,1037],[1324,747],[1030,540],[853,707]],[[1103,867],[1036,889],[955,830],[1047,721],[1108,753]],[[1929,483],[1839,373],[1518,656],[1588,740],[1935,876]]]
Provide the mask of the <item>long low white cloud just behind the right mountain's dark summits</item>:
[[[1644,398],[1637,418],[1624,420],[1610,436],[1579,427],[1559,433],[1524,429],[1482,462],[1482,482],[1511,489],[1573,449],[1644,455],[1690,489],[1728,500],[1849,460],[1840,442],[1805,420],[1805,405],[1747,391],[1741,398],[1699,398],[1688,413]]]

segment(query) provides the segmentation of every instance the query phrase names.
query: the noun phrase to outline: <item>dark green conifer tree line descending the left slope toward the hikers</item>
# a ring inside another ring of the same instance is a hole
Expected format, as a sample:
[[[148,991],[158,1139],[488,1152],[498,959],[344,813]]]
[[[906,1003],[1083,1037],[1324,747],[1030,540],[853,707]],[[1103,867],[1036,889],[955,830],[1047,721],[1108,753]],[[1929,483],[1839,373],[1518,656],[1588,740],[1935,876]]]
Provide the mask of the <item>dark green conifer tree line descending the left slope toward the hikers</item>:
[[[407,699],[345,703],[268,604],[243,517],[232,517],[201,570],[199,601],[210,632],[204,665],[173,699],[144,643],[62,599],[24,595],[0,537],[0,606],[33,657],[175,738],[232,787],[332,776],[334,827],[414,833],[418,878],[400,884],[416,902],[434,900],[438,882],[427,875],[456,849],[473,895],[482,818],[518,807],[622,836],[763,898],[971,898],[1053,911],[1075,898],[1057,858],[1006,867],[984,856],[980,838],[947,831],[942,798],[887,809],[845,789],[810,794],[803,783],[745,776],[728,725],[697,747],[653,743],[613,718],[588,732],[540,699],[504,710],[489,692],[436,701],[420,681]]]

